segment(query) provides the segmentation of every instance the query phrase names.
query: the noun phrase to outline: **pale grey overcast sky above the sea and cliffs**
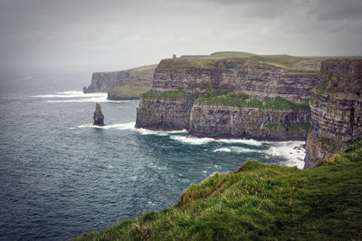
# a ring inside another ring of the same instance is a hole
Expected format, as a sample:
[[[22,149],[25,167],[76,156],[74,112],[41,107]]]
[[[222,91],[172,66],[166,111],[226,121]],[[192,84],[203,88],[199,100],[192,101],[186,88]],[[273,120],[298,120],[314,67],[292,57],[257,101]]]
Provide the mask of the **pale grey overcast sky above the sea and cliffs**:
[[[362,0],[0,0],[0,65],[119,70],[173,53],[362,55]]]

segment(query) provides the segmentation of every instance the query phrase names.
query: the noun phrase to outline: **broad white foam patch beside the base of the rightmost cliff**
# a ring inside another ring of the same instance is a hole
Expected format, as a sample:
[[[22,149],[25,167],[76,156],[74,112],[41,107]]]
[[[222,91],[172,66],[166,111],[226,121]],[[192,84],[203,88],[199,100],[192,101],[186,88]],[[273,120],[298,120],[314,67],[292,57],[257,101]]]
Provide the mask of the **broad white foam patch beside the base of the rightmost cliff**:
[[[282,142],[265,142],[270,145],[269,149],[265,149],[264,152],[272,157],[284,157],[287,159],[281,164],[294,167],[297,166],[299,169],[304,167],[305,149],[301,148],[305,141],[282,141]]]

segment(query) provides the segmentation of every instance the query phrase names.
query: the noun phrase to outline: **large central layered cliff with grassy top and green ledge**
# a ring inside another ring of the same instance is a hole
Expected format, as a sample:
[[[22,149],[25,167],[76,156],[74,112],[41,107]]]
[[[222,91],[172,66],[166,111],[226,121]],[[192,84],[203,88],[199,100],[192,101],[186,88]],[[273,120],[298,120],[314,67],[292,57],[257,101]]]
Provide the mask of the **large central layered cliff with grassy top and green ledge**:
[[[306,102],[317,74],[278,63],[285,56],[247,54],[162,60],[152,91],[141,96],[136,127],[186,129],[197,137],[305,140]]]

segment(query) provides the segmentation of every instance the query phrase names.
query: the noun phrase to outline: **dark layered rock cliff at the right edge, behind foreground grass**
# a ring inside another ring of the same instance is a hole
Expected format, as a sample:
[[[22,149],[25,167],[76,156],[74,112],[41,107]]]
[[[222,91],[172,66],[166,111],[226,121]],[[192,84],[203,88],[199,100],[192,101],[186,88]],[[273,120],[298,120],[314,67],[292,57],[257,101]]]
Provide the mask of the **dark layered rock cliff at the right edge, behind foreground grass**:
[[[362,137],[362,60],[325,61],[319,80],[310,100],[306,168]]]

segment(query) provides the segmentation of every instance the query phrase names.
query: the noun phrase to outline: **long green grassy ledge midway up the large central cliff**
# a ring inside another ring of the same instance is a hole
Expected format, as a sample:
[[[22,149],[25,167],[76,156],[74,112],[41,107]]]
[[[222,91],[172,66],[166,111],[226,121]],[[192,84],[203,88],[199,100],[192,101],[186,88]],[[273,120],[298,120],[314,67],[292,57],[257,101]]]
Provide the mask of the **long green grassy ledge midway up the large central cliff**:
[[[288,100],[277,96],[266,101],[259,101],[249,98],[247,94],[239,95],[217,95],[211,97],[198,97],[196,101],[199,104],[206,103],[209,105],[230,105],[235,107],[252,107],[259,109],[274,109],[274,110],[299,110],[299,109],[308,109],[308,104],[303,103],[294,103]]]

